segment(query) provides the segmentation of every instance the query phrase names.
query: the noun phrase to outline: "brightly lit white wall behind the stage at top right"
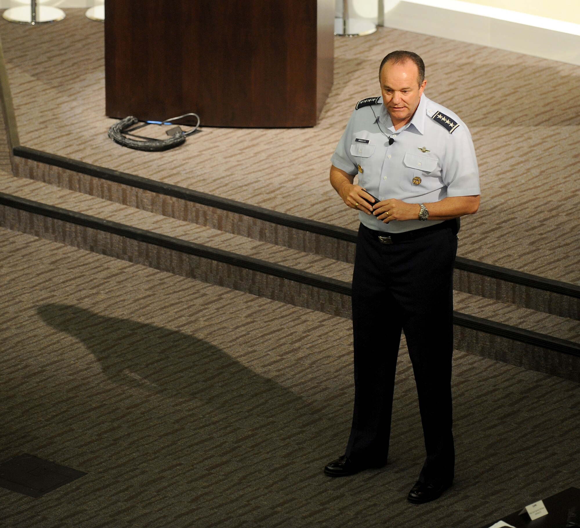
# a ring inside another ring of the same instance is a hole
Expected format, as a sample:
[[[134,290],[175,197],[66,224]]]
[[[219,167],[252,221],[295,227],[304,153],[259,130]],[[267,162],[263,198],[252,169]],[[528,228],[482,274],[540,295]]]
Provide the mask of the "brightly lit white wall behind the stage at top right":
[[[349,15],[376,21],[379,2],[386,27],[580,66],[580,0],[349,0]]]

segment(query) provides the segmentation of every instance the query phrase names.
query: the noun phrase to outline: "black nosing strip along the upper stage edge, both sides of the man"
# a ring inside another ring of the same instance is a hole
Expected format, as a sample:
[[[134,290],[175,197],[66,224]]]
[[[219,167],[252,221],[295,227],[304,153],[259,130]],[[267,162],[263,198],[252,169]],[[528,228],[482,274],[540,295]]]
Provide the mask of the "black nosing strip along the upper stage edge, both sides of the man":
[[[186,187],[157,182],[155,180],[143,178],[142,176],[99,167],[97,165],[85,163],[84,161],[73,160],[57,154],[50,154],[40,150],[31,149],[30,147],[16,146],[14,147],[13,152],[14,155],[21,158],[54,165],[55,167],[68,169],[88,176],[94,176],[95,178],[137,187],[138,189],[151,191],[153,193],[165,194],[166,196],[172,196],[181,200],[191,201],[245,216],[251,216],[252,218],[258,218],[277,225],[292,227],[293,229],[321,234],[331,238],[338,238],[339,240],[356,244],[356,231],[346,229],[345,227],[333,226],[331,224],[317,222],[316,220],[308,220],[300,218],[299,216],[292,216],[272,211],[271,209],[258,207],[256,205],[249,205],[244,204],[243,202],[229,200],[228,198],[220,198],[212,194],[187,189]],[[536,290],[553,292],[559,295],[566,295],[580,299],[580,286],[575,284],[545,279],[543,277],[532,275],[531,273],[518,272],[506,267],[486,264],[484,262],[474,261],[461,256],[456,258],[455,267],[459,270],[491,277],[492,279],[498,279],[508,283],[535,288]]]

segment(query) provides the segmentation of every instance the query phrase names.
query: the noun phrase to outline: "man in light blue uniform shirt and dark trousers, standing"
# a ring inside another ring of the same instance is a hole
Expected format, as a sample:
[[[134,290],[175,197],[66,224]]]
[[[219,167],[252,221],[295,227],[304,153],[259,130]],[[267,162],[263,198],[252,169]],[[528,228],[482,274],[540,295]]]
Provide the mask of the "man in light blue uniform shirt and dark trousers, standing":
[[[357,103],[330,172],[361,225],[352,287],[353,421],[345,455],[324,472],[347,476],[386,464],[403,330],[427,454],[412,502],[436,499],[454,477],[452,275],[458,219],[477,211],[480,194],[467,126],[423,95],[424,77],[415,53],[383,59],[382,97]]]

